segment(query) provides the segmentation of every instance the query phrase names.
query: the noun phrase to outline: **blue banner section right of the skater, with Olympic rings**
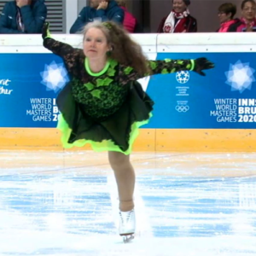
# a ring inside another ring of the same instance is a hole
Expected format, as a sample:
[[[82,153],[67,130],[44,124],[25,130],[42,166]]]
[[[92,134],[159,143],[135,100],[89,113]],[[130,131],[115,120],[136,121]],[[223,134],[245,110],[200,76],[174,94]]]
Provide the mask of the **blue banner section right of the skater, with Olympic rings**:
[[[215,68],[154,76],[148,94],[155,102],[147,128],[256,128],[255,53],[163,53],[157,59],[207,57]]]

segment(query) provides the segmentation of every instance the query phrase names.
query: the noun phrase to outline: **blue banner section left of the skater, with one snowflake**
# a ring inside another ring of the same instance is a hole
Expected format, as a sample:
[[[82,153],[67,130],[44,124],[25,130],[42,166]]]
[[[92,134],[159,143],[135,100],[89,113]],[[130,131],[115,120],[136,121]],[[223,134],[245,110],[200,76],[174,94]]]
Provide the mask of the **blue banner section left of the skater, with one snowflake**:
[[[52,54],[1,54],[0,127],[55,127],[57,92],[68,82]]]

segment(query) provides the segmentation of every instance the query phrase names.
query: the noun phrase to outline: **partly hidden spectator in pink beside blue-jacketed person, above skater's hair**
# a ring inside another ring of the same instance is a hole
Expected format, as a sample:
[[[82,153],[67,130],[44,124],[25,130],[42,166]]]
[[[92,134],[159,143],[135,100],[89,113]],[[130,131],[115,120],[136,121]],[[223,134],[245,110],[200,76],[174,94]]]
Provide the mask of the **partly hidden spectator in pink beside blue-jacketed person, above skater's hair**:
[[[143,27],[139,25],[137,19],[126,9],[126,0],[116,0],[116,2],[125,12],[124,28],[131,33],[142,33]]]

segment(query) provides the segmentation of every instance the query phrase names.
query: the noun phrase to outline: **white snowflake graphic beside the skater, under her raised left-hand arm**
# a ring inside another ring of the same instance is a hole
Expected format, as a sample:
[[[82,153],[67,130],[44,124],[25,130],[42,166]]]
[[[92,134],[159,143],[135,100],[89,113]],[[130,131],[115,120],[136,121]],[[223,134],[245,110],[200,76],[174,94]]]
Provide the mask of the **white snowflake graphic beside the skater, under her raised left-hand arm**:
[[[46,86],[46,90],[54,90],[57,92],[69,81],[67,70],[63,64],[57,64],[52,61],[49,65],[45,65],[44,72],[41,72],[41,84]]]

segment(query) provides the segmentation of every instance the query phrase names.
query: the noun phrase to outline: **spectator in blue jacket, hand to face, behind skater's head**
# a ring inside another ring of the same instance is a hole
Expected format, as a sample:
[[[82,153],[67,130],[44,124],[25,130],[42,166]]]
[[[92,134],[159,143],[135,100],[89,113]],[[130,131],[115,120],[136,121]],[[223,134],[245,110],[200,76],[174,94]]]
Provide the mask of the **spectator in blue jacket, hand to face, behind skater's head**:
[[[94,20],[111,20],[122,24],[124,16],[124,10],[120,9],[114,0],[90,0],[90,6],[81,10],[79,17],[70,29],[70,33],[81,32],[87,23]]]

